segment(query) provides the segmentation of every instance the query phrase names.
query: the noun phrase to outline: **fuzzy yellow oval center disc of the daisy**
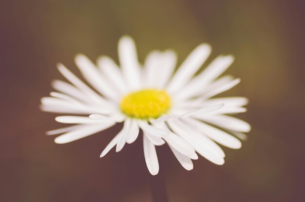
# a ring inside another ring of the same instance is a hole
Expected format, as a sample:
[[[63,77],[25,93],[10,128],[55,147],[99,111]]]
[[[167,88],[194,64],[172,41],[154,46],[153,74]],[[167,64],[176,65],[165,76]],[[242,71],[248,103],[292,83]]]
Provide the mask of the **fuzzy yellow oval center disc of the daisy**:
[[[139,118],[158,118],[171,107],[171,97],[165,91],[147,89],[125,95],[120,108],[126,115]]]

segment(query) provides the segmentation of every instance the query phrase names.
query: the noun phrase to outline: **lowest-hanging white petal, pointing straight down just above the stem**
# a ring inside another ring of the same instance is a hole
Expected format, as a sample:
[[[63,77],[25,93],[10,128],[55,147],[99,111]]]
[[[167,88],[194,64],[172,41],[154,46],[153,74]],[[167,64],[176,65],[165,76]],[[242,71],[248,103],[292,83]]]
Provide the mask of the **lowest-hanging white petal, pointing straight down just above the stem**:
[[[143,135],[143,148],[144,148],[144,157],[147,168],[152,175],[156,175],[159,172],[159,163],[156,153],[156,149],[152,142]]]

